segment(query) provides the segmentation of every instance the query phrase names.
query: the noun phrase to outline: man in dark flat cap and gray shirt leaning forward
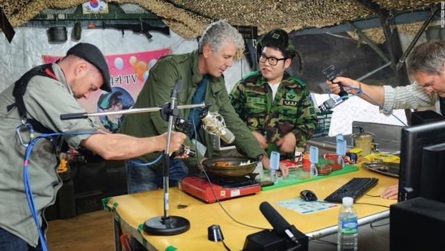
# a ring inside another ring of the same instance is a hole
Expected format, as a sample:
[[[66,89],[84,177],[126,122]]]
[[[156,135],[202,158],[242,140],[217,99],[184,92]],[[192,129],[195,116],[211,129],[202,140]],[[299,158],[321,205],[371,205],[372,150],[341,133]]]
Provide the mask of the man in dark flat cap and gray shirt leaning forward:
[[[42,250],[38,229],[45,232],[47,225],[42,212],[54,204],[62,186],[55,154],[61,138],[39,140],[26,164],[36,226],[24,187],[24,156],[32,138],[31,127],[35,137],[42,133],[96,131],[63,136],[63,140],[72,148],[86,147],[104,159],[131,159],[165,149],[165,135],[134,138],[102,133],[90,120],[60,120],[61,114],[85,113],[76,99],[88,98],[99,88],[111,91],[104,55],[93,44],[79,43],[62,60],[31,69],[0,93],[0,250]],[[170,151],[179,149],[184,138],[183,133],[173,133]]]

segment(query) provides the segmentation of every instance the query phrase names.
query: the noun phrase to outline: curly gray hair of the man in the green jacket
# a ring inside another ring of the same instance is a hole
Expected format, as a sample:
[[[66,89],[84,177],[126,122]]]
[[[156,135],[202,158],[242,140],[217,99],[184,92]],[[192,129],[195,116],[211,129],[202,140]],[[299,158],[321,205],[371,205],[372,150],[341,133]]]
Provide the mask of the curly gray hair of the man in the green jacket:
[[[244,49],[243,36],[238,33],[238,30],[225,22],[225,20],[213,22],[209,24],[204,33],[202,33],[200,42],[197,44],[197,51],[199,54],[202,54],[204,45],[209,44],[212,52],[216,53],[221,49],[225,41],[235,44],[237,50]]]

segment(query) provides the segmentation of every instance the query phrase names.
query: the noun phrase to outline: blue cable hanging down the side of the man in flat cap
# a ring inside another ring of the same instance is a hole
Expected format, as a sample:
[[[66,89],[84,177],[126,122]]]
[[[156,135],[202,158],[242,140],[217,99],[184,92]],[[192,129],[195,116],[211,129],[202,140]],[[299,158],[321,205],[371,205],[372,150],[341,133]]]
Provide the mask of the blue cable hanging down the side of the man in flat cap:
[[[39,233],[39,240],[40,240],[40,245],[42,245],[42,250],[43,251],[48,251],[47,248],[47,243],[44,240],[44,236],[42,233],[42,228],[40,227],[40,222],[39,222],[39,218],[38,218],[38,212],[37,209],[35,209],[35,203],[34,203],[34,197],[33,197],[33,190],[31,188],[31,184],[29,183],[29,176],[28,176],[28,163],[29,163],[29,156],[31,156],[31,152],[32,149],[35,145],[35,143],[37,143],[38,140],[42,139],[42,138],[53,138],[54,136],[74,136],[74,135],[82,135],[82,134],[93,134],[93,133],[97,133],[95,131],[86,131],[86,132],[79,132],[79,133],[47,133],[47,134],[42,134],[36,138],[33,138],[28,147],[26,147],[26,152],[25,152],[25,156],[24,156],[24,165],[23,165],[23,179],[24,179],[24,188],[25,188],[25,194],[26,194],[26,201],[28,202],[28,206],[29,206],[29,210],[31,211],[31,216],[33,216],[34,222],[35,222],[35,227],[37,227],[38,233]],[[31,128],[30,129],[30,134],[33,135],[34,131]],[[54,144],[54,142],[53,142]]]

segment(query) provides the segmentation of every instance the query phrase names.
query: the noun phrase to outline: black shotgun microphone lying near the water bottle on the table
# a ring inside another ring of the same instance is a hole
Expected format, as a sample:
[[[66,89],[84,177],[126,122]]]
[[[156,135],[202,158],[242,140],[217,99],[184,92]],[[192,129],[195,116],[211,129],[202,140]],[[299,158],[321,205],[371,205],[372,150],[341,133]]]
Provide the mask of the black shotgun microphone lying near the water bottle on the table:
[[[277,212],[268,202],[261,202],[259,204],[259,211],[263,213],[266,220],[272,225],[273,230],[282,237],[289,238],[291,241],[298,243],[297,237],[293,234],[293,231],[298,231],[296,227],[290,225],[289,222],[284,220],[283,216]],[[294,230],[295,229],[295,230]]]

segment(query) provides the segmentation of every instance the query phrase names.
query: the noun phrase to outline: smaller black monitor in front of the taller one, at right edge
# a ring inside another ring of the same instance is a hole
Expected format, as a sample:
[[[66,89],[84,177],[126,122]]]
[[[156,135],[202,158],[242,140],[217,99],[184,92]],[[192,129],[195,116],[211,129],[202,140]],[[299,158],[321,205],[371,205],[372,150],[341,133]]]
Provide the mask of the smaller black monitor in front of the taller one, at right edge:
[[[445,202],[445,143],[423,147],[419,196]]]

